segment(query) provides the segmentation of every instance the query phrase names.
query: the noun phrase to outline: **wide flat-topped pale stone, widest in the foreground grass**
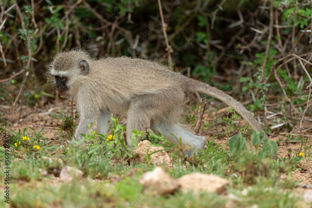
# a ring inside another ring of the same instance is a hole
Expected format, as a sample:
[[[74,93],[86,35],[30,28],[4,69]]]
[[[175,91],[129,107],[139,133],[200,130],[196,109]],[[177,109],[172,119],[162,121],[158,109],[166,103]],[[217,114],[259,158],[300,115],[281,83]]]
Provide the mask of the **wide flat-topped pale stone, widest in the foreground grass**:
[[[229,181],[213,174],[195,172],[178,178],[178,184],[184,193],[193,190],[195,193],[207,191],[221,194],[226,190],[225,186]]]

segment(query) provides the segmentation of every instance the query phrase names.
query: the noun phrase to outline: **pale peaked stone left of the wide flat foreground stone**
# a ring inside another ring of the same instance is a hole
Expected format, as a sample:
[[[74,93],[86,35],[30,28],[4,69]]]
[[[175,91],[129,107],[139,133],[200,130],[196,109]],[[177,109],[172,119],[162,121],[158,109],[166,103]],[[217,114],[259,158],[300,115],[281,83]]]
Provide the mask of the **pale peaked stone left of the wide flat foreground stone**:
[[[144,192],[150,191],[153,195],[172,194],[179,187],[176,179],[171,178],[161,167],[144,173],[140,177],[139,183],[143,184]]]

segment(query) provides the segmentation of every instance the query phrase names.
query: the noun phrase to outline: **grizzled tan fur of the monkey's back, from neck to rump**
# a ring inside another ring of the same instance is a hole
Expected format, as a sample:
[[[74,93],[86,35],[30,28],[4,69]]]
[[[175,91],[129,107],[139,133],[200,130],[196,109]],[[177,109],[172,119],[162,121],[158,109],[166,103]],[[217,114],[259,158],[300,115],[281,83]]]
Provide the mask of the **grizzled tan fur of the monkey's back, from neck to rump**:
[[[177,86],[184,77],[163,64],[139,58],[103,58],[90,63],[90,76],[103,77],[106,90],[123,94],[158,93]]]

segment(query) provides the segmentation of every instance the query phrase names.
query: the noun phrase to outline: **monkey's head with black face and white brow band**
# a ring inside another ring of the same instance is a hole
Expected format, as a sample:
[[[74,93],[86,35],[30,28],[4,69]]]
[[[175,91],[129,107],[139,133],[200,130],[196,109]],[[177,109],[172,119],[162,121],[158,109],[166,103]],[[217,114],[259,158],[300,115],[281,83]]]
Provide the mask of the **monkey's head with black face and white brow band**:
[[[48,74],[61,94],[71,94],[89,73],[89,54],[82,50],[58,53],[48,67]],[[78,84],[79,83],[79,84]]]

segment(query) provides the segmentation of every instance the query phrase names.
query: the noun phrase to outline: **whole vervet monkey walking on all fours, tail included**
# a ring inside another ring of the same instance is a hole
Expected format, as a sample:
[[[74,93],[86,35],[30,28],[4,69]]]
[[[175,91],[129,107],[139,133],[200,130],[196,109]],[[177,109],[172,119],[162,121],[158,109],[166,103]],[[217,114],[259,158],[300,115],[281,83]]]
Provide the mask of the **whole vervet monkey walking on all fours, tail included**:
[[[56,89],[72,97],[80,112],[75,138],[88,133],[88,124],[97,123],[98,132],[107,132],[110,114],[127,113],[127,142],[131,131],[150,126],[170,142],[198,150],[205,137],[190,133],[178,122],[183,111],[184,91],[215,97],[236,110],[256,131],[263,131],[251,113],[225,92],[174,72],[161,63],[130,57],[93,59],[83,50],[61,52],[51,62],[48,74]],[[174,135],[174,136],[173,136]],[[267,135],[264,136],[267,138]],[[186,152],[190,157],[193,150]]]

